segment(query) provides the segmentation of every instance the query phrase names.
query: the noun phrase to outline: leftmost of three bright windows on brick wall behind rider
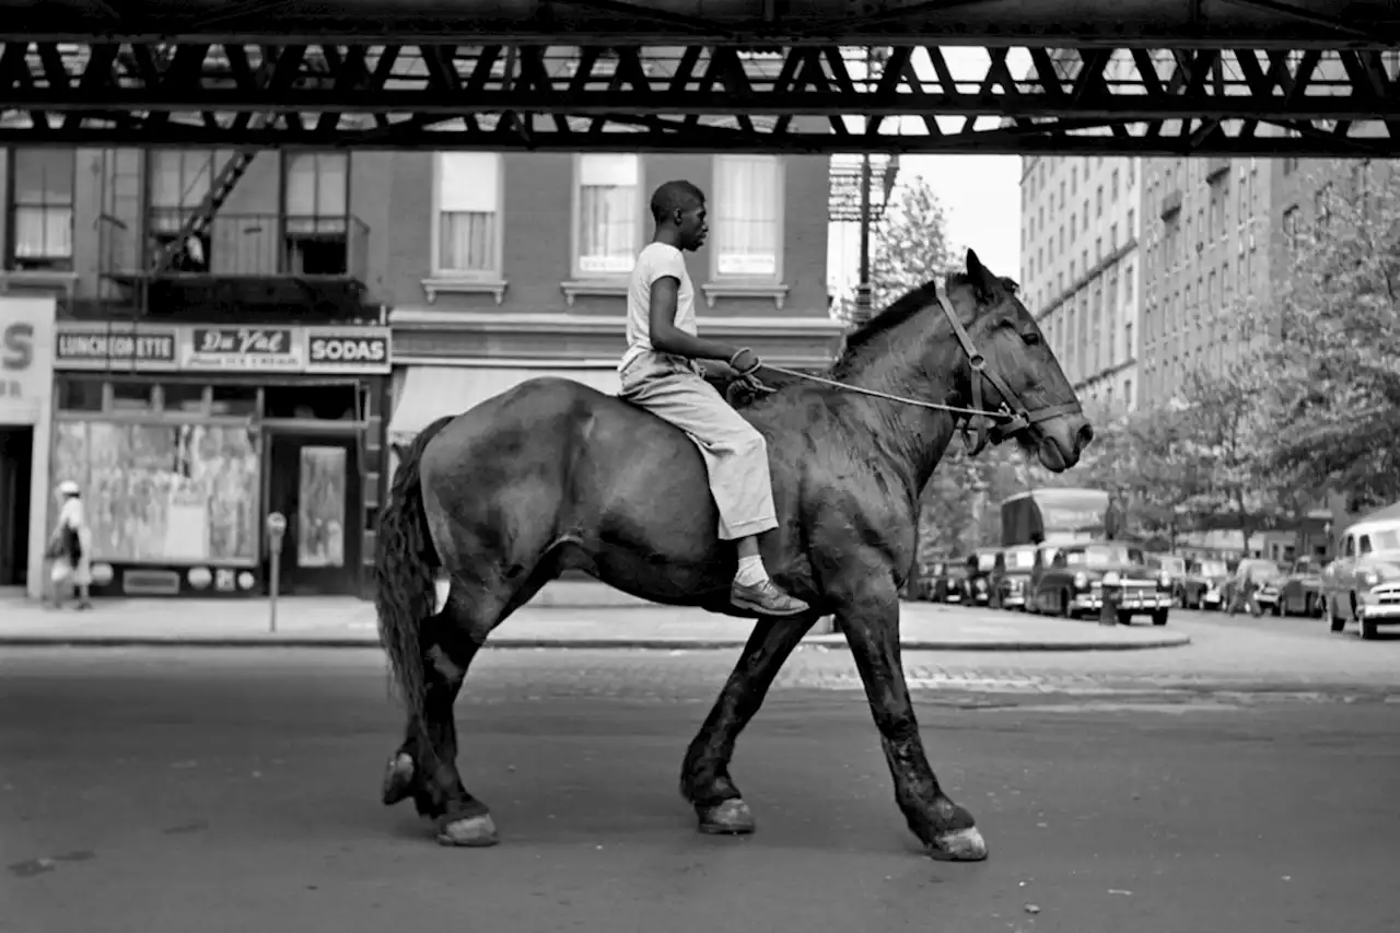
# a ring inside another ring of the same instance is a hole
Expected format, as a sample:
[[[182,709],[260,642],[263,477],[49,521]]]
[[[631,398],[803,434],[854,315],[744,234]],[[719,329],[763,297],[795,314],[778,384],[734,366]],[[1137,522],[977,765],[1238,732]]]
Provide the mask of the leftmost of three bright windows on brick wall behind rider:
[[[500,153],[438,153],[434,273],[501,275]]]

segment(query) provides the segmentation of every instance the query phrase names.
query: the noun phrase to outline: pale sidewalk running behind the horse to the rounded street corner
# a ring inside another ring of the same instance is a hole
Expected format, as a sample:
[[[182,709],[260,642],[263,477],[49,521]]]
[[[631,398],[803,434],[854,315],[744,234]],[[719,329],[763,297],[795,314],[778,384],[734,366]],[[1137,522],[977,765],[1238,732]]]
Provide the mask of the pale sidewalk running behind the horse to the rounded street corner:
[[[552,584],[547,604],[531,602],[496,633],[494,649],[729,649],[753,622],[700,609],[659,607],[592,583]],[[575,591],[577,590],[577,591]],[[906,650],[1106,651],[1187,644],[1183,632],[1151,625],[1100,626],[1019,612],[906,602]],[[291,597],[269,630],[266,600],[108,600],[90,612],[43,609],[0,597],[0,644],[377,647],[374,605],[349,597]],[[808,644],[843,646],[840,635]]]

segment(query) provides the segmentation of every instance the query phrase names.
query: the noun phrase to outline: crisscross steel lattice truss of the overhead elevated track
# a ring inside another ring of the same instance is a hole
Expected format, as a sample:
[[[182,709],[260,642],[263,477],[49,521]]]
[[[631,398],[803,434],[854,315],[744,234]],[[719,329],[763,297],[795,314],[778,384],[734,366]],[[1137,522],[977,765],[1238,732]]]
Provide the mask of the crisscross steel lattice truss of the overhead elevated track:
[[[7,42],[0,144],[1385,157],[1397,67],[1358,49]]]

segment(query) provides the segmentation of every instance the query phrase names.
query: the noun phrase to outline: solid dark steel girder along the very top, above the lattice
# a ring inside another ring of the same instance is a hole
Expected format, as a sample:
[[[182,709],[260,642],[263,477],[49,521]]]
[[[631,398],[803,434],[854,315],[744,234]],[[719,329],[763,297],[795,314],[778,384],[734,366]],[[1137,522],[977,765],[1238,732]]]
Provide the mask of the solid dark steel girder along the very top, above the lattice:
[[[0,39],[1380,48],[1389,0],[0,0]]]

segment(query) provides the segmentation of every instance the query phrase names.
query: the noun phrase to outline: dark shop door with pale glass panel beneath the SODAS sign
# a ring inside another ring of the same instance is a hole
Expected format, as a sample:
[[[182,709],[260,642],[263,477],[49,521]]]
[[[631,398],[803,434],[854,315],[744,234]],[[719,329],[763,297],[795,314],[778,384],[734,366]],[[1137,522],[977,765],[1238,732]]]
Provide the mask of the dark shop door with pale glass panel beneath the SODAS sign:
[[[281,593],[356,593],[360,464],[354,436],[273,434],[267,510],[287,517]]]

